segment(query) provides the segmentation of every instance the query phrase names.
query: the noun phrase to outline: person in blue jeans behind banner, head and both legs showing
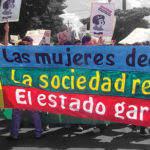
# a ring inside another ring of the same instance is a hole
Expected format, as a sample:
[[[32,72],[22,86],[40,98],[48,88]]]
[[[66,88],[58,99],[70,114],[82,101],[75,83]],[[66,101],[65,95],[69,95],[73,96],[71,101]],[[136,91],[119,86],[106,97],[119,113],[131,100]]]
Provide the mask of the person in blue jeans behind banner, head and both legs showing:
[[[19,45],[32,45],[33,39],[29,36],[23,37],[22,41],[19,43]],[[18,139],[18,130],[20,128],[21,123],[21,116],[22,116],[23,110],[21,109],[13,109],[12,111],[12,127],[11,127],[11,133],[10,136],[7,138],[8,140],[17,140]],[[35,137],[36,139],[41,139],[43,137],[42,134],[42,125],[41,125],[41,118],[38,111],[29,111],[33,124],[35,126]]]

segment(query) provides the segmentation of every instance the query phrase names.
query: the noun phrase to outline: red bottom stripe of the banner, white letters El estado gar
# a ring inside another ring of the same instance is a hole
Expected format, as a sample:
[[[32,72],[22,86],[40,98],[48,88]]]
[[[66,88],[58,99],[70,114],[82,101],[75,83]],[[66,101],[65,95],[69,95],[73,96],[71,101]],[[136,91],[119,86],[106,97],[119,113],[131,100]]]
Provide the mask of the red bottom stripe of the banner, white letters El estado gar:
[[[145,99],[54,93],[14,86],[3,86],[3,91],[5,108],[150,126],[150,101]]]

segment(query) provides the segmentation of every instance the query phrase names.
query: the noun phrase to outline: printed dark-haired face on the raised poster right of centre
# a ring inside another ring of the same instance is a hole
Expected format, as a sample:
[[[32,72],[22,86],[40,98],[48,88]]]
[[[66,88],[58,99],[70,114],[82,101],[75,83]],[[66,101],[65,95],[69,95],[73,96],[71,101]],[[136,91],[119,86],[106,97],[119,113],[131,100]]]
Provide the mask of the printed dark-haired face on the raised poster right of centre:
[[[96,15],[93,17],[93,27],[94,30],[103,31],[103,25],[105,24],[105,16],[103,15]]]

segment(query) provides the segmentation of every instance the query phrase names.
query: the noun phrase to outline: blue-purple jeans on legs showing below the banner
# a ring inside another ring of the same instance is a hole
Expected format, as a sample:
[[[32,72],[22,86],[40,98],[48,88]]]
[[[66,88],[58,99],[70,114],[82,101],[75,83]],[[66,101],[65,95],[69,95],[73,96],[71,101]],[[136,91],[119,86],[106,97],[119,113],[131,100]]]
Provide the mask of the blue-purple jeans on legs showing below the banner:
[[[21,110],[21,109],[13,109],[12,127],[11,127],[11,135],[12,136],[18,137],[18,130],[20,128],[22,111],[23,110]],[[42,135],[40,114],[37,111],[29,111],[29,112],[32,116],[33,124],[35,127],[35,136],[39,137]]]

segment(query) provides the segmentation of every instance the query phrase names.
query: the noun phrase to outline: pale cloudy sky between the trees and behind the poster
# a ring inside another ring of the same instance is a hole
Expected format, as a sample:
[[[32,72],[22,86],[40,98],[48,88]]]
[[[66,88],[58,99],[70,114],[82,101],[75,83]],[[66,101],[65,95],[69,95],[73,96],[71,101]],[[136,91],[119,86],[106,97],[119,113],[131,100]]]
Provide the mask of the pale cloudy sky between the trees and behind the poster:
[[[150,7],[150,0],[126,0],[127,9],[133,7]],[[67,0],[65,14],[62,15],[64,23],[69,21],[70,26],[73,29],[78,30],[82,26],[80,19],[90,16],[90,7],[92,2],[107,3],[108,0]],[[111,3],[115,3],[116,9],[122,9],[122,0],[111,0]],[[150,17],[148,17],[150,20]]]

